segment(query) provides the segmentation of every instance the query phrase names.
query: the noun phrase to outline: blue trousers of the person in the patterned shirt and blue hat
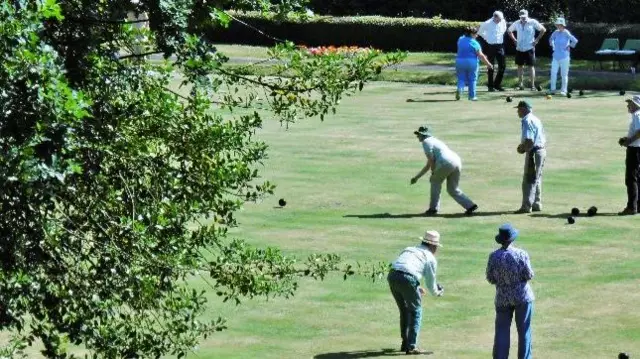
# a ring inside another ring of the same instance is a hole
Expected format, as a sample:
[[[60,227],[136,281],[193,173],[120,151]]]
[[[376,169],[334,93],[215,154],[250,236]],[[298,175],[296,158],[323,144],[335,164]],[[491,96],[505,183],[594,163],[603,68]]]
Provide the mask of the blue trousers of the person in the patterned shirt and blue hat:
[[[518,328],[518,359],[531,359],[531,317],[533,302],[517,306],[496,307],[496,334],[493,340],[493,359],[509,358],[510,331],[513,314]]]

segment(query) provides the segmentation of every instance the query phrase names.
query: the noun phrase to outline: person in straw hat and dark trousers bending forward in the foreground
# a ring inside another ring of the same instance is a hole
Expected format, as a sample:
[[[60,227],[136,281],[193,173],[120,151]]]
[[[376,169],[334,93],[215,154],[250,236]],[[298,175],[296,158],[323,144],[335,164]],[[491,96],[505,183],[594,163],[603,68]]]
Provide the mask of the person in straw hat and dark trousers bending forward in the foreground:
[[[405,248],[400,256],[391,264],[387,276],[391,294],[400,311],[401,351],[406,354],[423,353],[418,348],[418,336],[422,321],[422,296],[429,291],[431,295],[441,296],[442,287],[436,282],[436,252],[441,247],[440,234],[427,231],[420,237],[421,243],[415,247]],[[424,279],[425,290],[420,286]]]

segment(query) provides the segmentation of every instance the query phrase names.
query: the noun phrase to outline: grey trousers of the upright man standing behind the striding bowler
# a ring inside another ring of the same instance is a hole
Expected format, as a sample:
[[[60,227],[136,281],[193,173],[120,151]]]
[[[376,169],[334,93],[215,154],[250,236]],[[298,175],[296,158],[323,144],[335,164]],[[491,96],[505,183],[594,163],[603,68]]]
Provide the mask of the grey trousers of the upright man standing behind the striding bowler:
[[[542,206],[542,169],[547,151],[530,151],[524,157],[524,176],[522,176],[521,209],[541,208]]]

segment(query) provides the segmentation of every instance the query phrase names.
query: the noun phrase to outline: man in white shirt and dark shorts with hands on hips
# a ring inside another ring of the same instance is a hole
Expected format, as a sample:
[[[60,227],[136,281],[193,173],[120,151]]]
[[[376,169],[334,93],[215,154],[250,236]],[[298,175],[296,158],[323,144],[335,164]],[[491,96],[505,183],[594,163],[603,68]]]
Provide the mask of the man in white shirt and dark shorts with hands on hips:
[[[538,37],[536,37],[536,31],[539,32]],[[531,90],[535,91],[536,89],[536,45],[546,31],[547,29],[538,20],[529,18],[527,10],[520,10],[520,20],[511,24],[507,30],[509,37],[516,44],[516,65],[518,65],[518,78],[520,80],[518,89],[520,90],[524,89],[524,65],[529,66]],[[513,35],[514,32],[518,33],[517,38]]]

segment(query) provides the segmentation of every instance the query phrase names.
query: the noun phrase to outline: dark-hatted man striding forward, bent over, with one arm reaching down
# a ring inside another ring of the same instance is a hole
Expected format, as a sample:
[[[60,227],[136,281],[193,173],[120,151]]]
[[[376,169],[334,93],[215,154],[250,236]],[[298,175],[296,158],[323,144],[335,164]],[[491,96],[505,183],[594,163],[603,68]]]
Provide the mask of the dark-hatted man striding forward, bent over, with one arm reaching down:
[[[462,160],[457,153],[439,139],[433,137],[427,126],[421,126],[413,132],[418,141],[422,143],[422,149],[427,156],[427,164],[411,178],[411,184],[418,182],[420,177],[431,170],[431,200],[429,209],[425,212],[428,216],[438,214],[440,209],[440,193],[442,182],[447,180],[447,192],[453,199],[465,209],[465,214],[472,215],[478,206],[465,196],[459,187],[460,172],[462,170]]]

